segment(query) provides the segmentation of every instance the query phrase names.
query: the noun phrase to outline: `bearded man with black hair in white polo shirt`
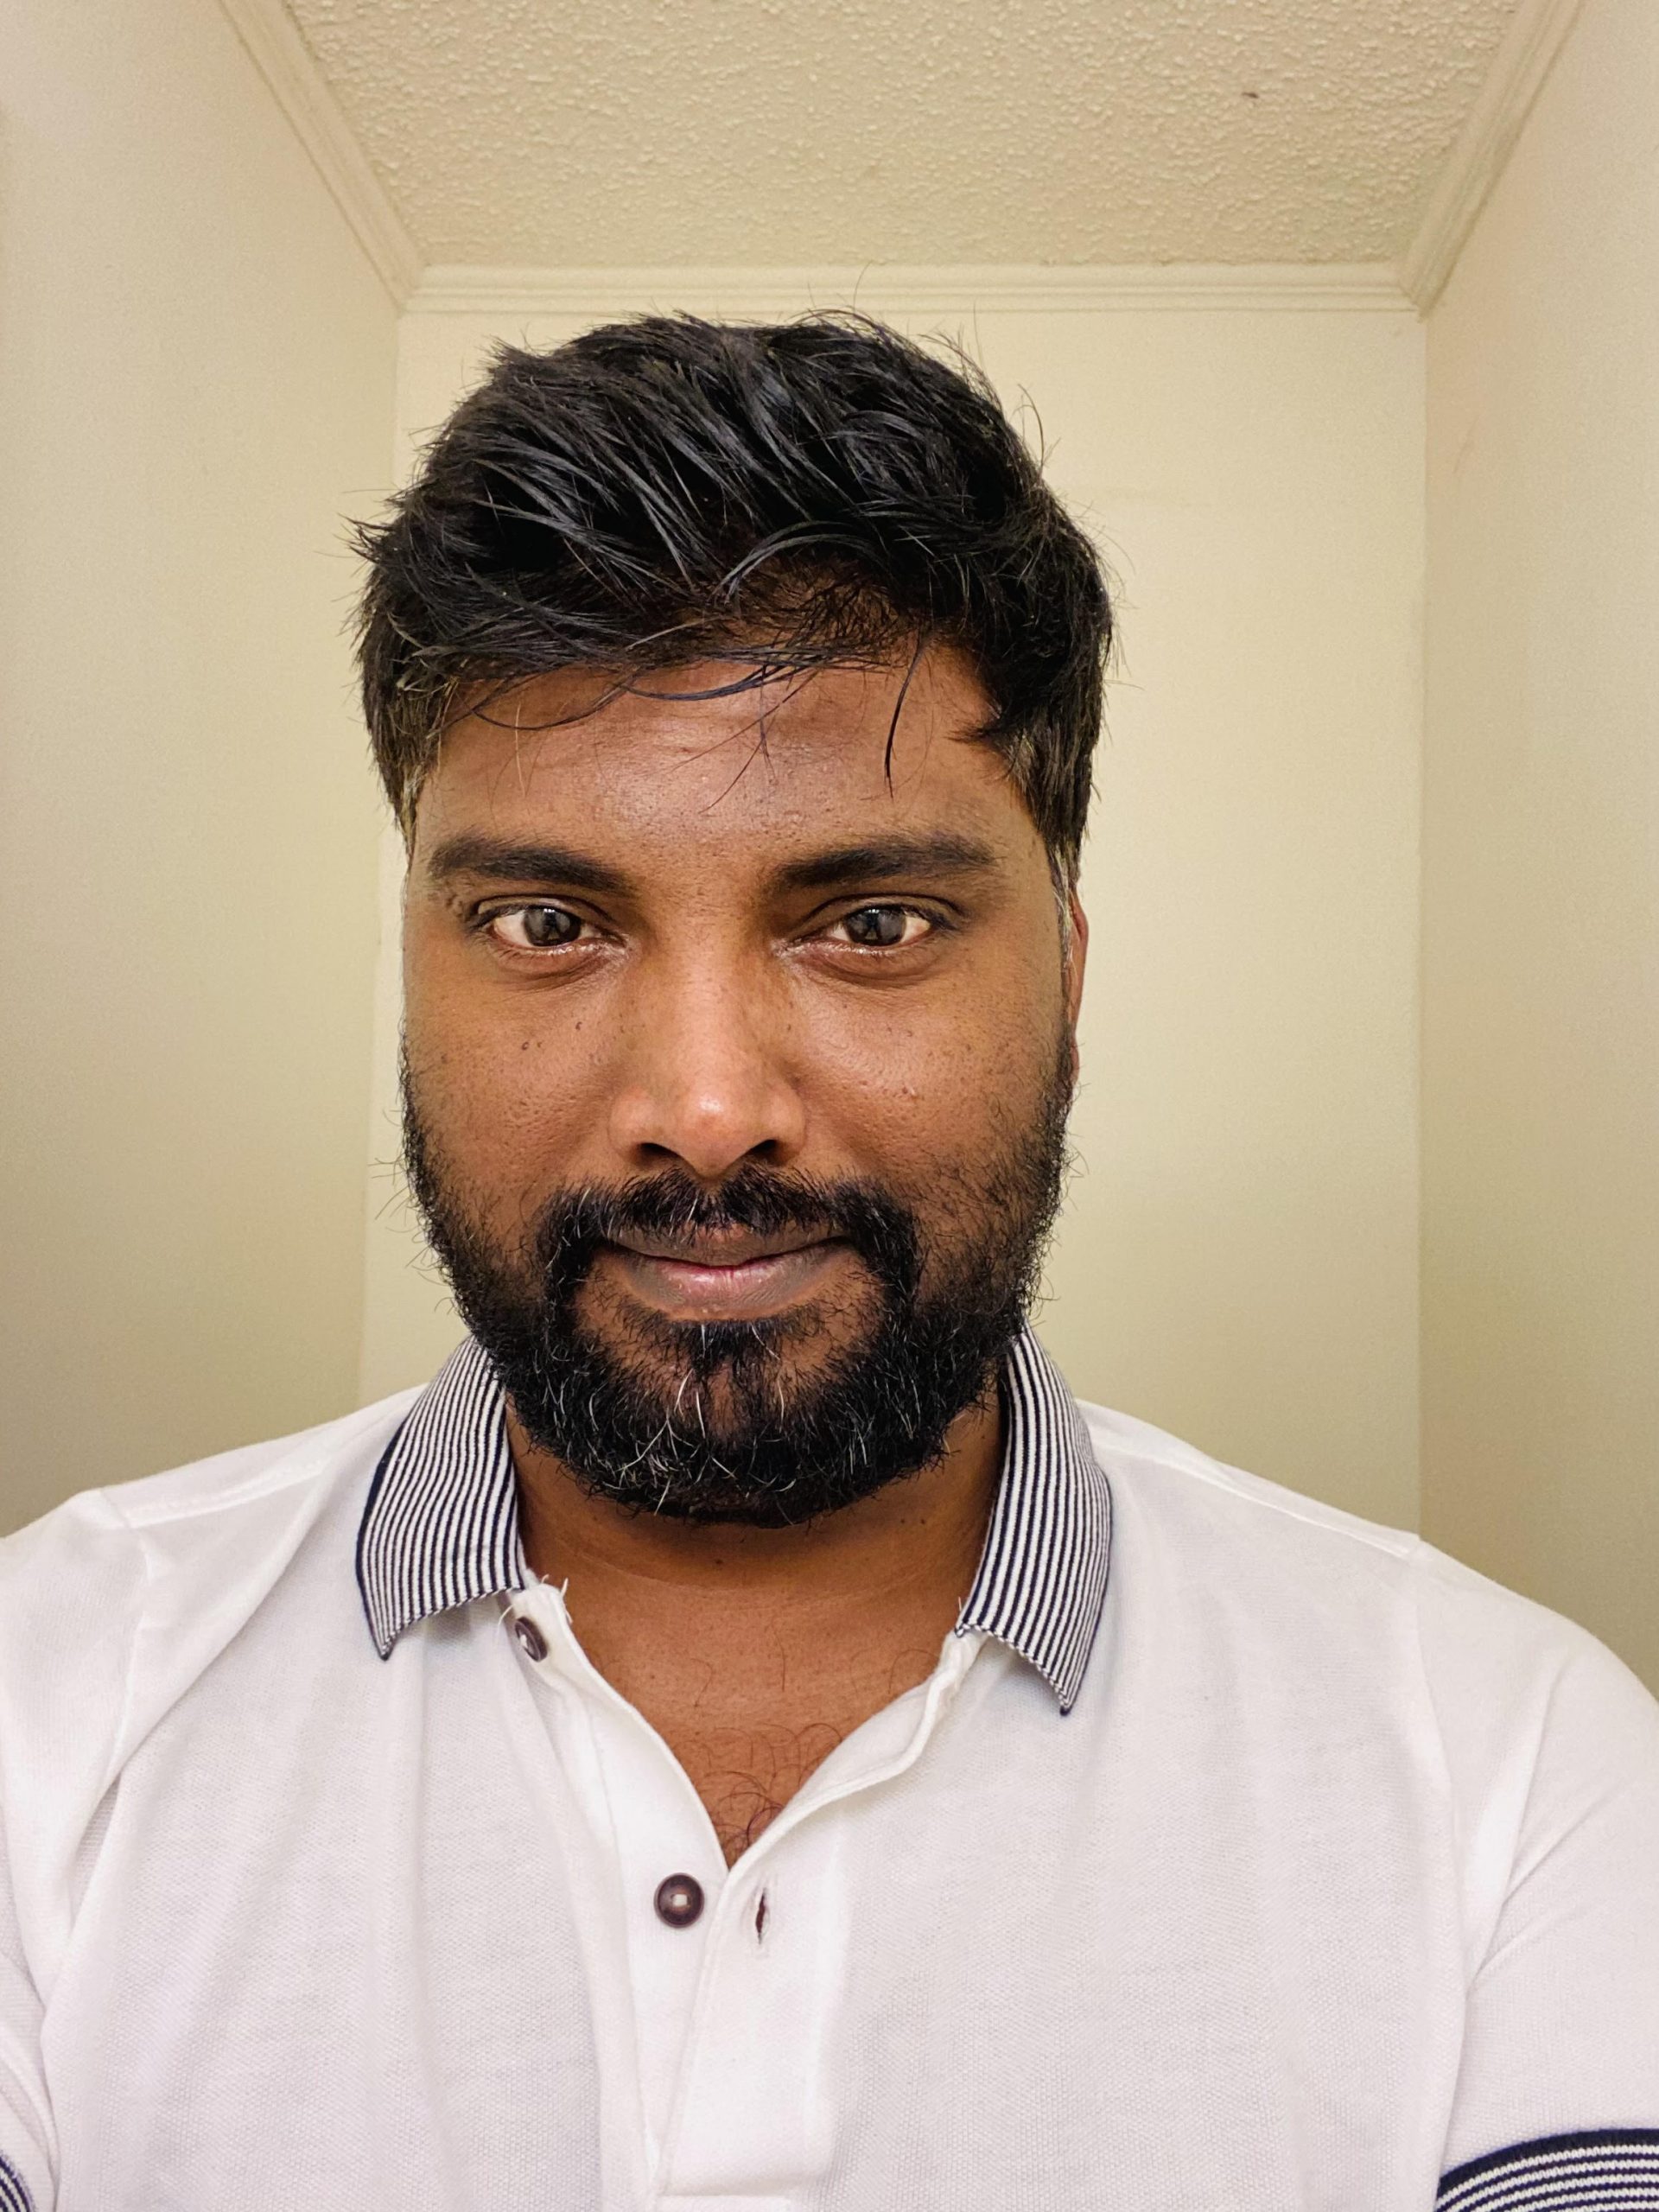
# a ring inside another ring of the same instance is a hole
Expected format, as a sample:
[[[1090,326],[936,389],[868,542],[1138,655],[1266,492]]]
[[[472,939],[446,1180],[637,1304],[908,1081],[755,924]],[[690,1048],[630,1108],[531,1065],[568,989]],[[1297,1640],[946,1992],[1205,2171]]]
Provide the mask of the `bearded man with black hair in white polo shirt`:
[[[0,2208],[1659,2203],[1659,1710],[1024,1327],[1108,606],[989,392],[507,352],[365,549],[471,1334],[0,1553]]]

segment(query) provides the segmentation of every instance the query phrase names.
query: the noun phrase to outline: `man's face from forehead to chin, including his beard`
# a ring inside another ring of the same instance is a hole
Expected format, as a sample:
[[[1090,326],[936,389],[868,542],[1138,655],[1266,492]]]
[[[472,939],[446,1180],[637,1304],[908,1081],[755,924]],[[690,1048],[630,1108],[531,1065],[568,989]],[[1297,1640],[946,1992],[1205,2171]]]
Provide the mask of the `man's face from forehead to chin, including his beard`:
[[[409,1170],[529,1438],[790,1522],[938,1455],[1057,1203],[1082,920],[967,666],[562,672],[442,743]],[[677,695],[677,697],[670,697]]]

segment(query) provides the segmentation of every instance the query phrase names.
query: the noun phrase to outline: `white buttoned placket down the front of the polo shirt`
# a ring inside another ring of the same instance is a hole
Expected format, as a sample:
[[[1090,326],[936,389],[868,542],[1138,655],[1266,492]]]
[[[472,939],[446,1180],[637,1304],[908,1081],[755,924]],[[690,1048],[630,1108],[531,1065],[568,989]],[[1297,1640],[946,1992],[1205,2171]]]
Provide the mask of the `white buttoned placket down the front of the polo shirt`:
[[[947,1637],[927,1683],[854,1730],[728,1871],[684,1767],[591,1666],[560,1593],[518,1593],[511,1626],[622,1891],[648,2201],[785,2212],[836,2141],[849,1801],[914,1765],[982,1639]]]

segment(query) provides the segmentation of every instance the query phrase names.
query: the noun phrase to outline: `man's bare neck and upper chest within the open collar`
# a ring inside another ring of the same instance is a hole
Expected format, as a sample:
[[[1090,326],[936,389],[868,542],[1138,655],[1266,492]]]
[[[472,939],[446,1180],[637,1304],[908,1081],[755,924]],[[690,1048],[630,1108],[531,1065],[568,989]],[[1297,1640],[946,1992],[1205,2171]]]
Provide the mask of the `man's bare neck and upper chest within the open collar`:
[[[1002,1453],[991,1387],[920,1473],[799,1528],[745,1528],[593,1498],[511,1411],[509,1438],[531,1571],[564,1584],[586,1657],[677,1752],[728,1858],[933,1670],[973,1586]],[[763,1765],[765,1787],[745,1774],[732,1794],[734,1761]]]

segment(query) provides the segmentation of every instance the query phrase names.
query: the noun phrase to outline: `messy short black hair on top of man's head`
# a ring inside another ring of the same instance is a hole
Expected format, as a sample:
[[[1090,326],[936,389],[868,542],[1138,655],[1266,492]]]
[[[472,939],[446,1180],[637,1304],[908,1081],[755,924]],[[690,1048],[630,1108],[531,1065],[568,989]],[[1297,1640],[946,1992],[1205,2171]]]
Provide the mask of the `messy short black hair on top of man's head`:
[[[863,316],[504,345],[358,549],[363,706],[405,834],[449,721],[529,677],[622,690],[721,661],[748,688],[947,644],[991,703],[975,737],[1075,876],[1110,599],[960,356]]]

